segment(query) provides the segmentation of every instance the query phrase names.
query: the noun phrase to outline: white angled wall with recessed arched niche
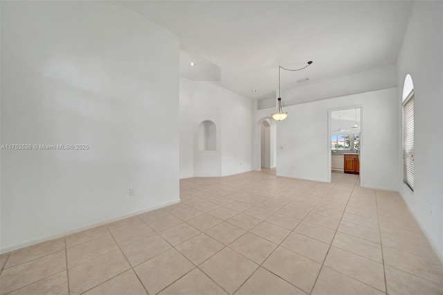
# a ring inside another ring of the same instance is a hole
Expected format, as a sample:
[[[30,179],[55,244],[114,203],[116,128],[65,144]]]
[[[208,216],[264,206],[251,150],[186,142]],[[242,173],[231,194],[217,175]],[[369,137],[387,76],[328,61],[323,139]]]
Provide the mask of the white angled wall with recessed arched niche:
[[[252,100],[215,82],[180,81],[180,178],[251,171]],[[198,149],[198,125],[204,120],[217,127],[215,151]]]

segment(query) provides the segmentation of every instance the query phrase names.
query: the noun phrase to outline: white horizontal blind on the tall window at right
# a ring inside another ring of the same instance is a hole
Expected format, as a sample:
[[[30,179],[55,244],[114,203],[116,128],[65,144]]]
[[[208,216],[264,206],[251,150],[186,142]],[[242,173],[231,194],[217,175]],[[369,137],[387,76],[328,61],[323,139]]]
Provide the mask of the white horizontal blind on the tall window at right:
[[[403,102],[403,181],[414,191],[414,91]]]

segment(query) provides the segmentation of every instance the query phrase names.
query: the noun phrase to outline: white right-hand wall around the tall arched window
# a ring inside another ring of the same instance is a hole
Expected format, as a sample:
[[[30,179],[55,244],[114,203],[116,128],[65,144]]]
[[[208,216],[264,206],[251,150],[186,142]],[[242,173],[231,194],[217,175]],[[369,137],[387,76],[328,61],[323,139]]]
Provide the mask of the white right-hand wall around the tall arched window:
[[[413,78],[415,93],[415,179],[411,194],[397,177],[399,192],[410,211],[443,258],[443,3],[417,1],[398,59],[397,109],[406,74]],[[401,128],[401,120],[399,120]],[[401,136],[399,136],[399,163]]]

